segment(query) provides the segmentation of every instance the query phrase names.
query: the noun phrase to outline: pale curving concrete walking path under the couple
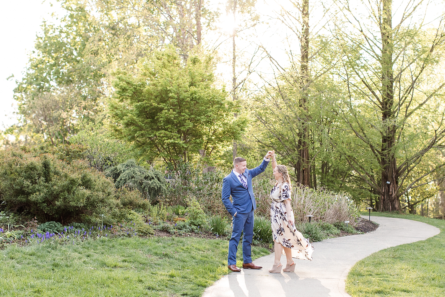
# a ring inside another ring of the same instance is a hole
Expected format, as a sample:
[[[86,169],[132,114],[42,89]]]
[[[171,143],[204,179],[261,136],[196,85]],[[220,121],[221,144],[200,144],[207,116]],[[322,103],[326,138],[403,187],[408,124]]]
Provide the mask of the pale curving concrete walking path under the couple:
[[[368,218],[368,216],[364,216]],[[344,297],[345,279],[359,260],[384,248],[425,240],[440,233],[431,225],[405,219],[371,216],[374,232],[315,242],[312,261],[295,260],[295,272],[268,273],[274,255],[254,261],[263,269],[242,269],[216,281],[202,297]],[[286,265],[286,257],[281,263]]]

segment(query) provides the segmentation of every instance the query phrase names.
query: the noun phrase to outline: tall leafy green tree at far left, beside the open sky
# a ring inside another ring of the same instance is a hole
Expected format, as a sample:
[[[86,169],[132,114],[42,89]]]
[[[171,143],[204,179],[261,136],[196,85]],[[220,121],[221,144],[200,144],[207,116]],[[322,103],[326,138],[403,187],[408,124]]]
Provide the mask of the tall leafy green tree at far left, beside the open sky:
[[[71,4],[62,3],[67,15],[60,25],[42,24],[29,66],[17,81],[20,124],[8,132],[25,141],[40,134],[53,146],[67,143],[79,120],[93,121],[102,110],[109,61],[90,42],[100,29],[85,5]]]

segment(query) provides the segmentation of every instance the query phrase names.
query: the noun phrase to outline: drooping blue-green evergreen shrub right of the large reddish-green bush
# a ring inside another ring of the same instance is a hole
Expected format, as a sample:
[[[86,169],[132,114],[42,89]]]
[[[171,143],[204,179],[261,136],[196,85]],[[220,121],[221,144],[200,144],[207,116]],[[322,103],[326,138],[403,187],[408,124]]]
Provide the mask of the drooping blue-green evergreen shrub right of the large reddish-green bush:
[[[161,171],[146,170],[138,166],[134,159],[109,168],[105,175],[113,178],[117,188],[128,186],[130,189],[138,189],[144,197],[151,200],[166,191],[166,181]]]

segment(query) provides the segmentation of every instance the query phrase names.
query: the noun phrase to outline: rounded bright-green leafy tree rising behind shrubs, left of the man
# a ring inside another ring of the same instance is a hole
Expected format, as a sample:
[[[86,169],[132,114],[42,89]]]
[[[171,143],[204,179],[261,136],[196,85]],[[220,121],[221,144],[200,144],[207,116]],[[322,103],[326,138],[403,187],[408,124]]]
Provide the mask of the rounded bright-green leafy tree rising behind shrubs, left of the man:
[[[194,154],[210,158],[239,139],[246,124],[234,120],[236,102],[213,82],[211,57],[191,56],[184,65],[170,47],[141,59],[136,77],[117,75],[111,106],[117,135],[146,159],[162,158],[174,169]]]

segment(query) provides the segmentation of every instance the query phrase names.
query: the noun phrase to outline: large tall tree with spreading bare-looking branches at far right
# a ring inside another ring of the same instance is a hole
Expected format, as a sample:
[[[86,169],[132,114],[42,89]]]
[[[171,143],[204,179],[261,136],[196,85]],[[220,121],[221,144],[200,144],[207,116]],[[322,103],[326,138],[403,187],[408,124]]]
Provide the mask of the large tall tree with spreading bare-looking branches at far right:
[[[356,137],[347,148],[337,148],[380,197],[380,211],[400,210],[400,197],[431,182],[431,174],[444,166],[429,164],[423,174],[412,174],[444,141],[445,82],[437,76],[444,61],[444,14],[428,9],[429,2],[407,1],[393,27],[392,4],[338,2],[347,22],[337,24],[336,33],[344,63],[334,74],[347,90],[340,108]],[[355,5],[366,8],[369,17],[358,15]],[[432,23],[425,17],[435,19],[435,29],[428,28]]]

